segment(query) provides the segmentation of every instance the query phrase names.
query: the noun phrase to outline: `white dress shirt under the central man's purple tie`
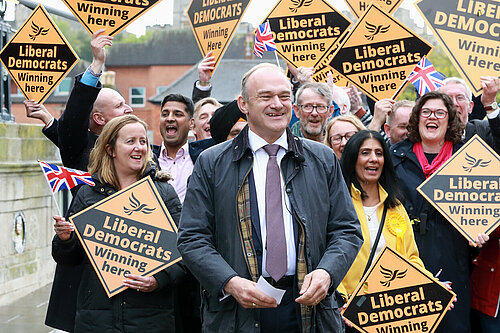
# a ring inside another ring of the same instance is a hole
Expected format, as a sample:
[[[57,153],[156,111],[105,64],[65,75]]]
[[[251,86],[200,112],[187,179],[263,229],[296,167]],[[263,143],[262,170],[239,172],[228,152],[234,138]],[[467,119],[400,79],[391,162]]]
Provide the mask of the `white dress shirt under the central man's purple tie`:
[[[267,175],[267,161],[269,160],[269,155],[262,148],[268,143],[259,137],[257,134],[248,131],[248,141],[252,152],[254,155],[253,162],[253,178],[255,182],[255,191],[257,193],[257,205],[259,207],[259,218],[260,218],[260,234],[262,239],[262,275],[270,276],[266,271],[266,175]],[[295,239],[293,234],[293,219],[291,214],[290,200],[286,195],[285,181],[283,179],[283,171],[281,170],[281,160],[288,150],[288,142],[286,137],[286,132],[273,142],[279,145],[281,148],[278,150],[276,156],[278,165],[281,171],[281,203],[283,208],[283,221],[285,224],[285,239],[287,248],[287,271],[286,275],[295,275],[296,266],[296,251],[295,251]]]

